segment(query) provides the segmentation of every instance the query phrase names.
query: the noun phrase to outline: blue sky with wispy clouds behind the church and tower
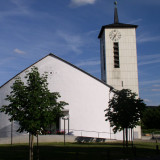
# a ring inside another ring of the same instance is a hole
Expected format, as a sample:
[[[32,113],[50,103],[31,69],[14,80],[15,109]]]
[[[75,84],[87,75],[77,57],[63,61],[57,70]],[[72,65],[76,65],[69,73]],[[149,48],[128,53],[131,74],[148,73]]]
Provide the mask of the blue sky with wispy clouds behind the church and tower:
[[[1,0],[0,85],[49,53],[100,78],[97,38],[114,0]],[[160,0],[118,0],[121,23],[139,25],[140,97],[160,105]]]

